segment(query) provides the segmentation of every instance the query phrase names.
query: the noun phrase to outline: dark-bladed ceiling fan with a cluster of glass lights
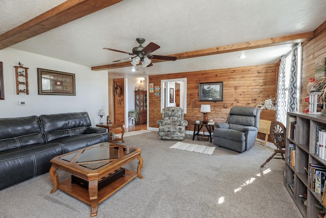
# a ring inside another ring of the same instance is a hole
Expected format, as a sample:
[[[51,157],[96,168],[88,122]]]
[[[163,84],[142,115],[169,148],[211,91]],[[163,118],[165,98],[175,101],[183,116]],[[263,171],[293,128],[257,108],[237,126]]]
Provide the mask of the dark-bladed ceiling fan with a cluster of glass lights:
[[[114,51],[114,52],[121,52],[128,55],[133,55],[134,57],[132,58],[124,58],[124,59],[113,61],[113,62],[119,62],[123,60],[132,60],[130,63],[133,66],[139,64],[140,61],[142,61],[143,67],[153,66],[153,64],[151,63],[152,59],[167,60],[167,61],[175,61],[177,59],[177,57],[172,57],[172,56],[150,55],[152,52],[159,49],[160,46],[155,44],[154,42],[150,42],[148,45],[143,47],[142,44],[145,42],[144,38],[137,38],[136,41],[139,43],[139,46],[134,47],[132,49],[132,53],[123,52],[115,49],[108,49],[107,47],[104,47],[103,49]]]

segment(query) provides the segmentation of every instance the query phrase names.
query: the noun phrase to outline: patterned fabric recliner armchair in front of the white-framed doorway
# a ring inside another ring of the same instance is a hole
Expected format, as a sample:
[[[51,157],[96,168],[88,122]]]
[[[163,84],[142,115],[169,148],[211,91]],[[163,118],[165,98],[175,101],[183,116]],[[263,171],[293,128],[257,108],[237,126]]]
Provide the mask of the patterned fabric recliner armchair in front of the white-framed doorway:
[[[159,119],[156,122],[156,124],[159,126],[159,139],[185,139],[185,127],[188,125],[188,122],[183,118],[183,108],[164,108],[162,112],[162,119]]]

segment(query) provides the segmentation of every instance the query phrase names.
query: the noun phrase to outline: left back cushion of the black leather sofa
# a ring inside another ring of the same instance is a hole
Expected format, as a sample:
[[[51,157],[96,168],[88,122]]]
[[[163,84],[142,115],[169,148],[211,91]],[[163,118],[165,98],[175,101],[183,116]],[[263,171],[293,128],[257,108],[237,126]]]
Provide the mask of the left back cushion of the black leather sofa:
[[[0,118],[0,152],[44,142],[37,116]]]

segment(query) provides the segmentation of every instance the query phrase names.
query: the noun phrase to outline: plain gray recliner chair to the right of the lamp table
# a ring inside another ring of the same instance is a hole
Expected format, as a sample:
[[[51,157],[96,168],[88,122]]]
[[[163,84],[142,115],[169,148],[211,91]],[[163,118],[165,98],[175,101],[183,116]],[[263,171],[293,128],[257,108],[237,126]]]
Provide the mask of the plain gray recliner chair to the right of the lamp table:
[[[253,107],[233,107],[226,123],[215,124],[213,143],[237,152],[249,150],[256,141],[260,112]]]

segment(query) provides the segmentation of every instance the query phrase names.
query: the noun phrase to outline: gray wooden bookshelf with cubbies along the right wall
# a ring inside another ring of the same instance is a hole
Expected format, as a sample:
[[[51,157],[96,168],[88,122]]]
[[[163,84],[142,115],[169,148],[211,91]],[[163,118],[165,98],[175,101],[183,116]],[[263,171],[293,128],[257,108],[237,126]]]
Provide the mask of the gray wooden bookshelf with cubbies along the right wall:
[[[289,192],[298,210],[304,217],[318,217],[320,209],[316,204],[322,205],[321,195],[309,188],[308,172],[310,163],[326,166],[326,160],[315,155],[316,127],[326,127],[326,116],[321,114],[309,114],[302,112],[287,113],[287,132],[291,131],[288,125],[289,119],[296,119],[295,138],[286,137],[284,186]],[[295,145],[295,164],[291,166],[288,161],[289,143]],[[289,184],[294,183],[294,192]],[[307,193],[307,206],[299,195]]]

